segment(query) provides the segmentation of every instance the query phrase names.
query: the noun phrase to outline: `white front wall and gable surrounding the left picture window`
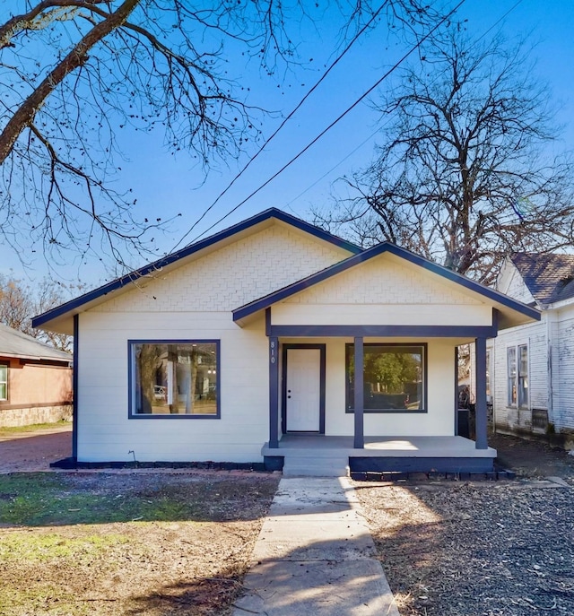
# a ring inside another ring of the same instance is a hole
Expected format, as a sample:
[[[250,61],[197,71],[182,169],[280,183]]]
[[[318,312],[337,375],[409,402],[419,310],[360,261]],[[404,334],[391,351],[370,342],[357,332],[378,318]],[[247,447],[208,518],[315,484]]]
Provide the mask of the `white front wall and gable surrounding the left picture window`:
[[[342,260],[346,251],[283,224],[238,239],[80,315],[81,461],[257,462],[269,438],[263,316],[231,310]],[[220,340],[221,419],[132,419],[128,340]]]

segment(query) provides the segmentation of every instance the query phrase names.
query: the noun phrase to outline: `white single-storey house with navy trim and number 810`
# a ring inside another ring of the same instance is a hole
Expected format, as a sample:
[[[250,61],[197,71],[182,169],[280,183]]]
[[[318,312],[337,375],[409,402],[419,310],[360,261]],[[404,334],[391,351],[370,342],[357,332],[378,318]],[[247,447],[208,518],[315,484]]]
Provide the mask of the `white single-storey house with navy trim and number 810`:
[[[272,209],[33,325],[74,334],[80,463],[281,468],[304,447],[373,470],[484,472],[486,340],[538,318],[392,244],[361,250]],[[457,437],[455,353],[472,341],[475,443]]]

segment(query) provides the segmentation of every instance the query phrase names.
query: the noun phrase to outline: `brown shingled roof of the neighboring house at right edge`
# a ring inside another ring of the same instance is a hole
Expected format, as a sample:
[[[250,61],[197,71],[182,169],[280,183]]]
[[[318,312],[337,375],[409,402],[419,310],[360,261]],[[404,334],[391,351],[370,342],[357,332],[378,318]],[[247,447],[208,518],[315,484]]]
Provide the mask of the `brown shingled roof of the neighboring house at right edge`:
[[[574,298],[574,255],[520,253],[510,260],[541,306]]]

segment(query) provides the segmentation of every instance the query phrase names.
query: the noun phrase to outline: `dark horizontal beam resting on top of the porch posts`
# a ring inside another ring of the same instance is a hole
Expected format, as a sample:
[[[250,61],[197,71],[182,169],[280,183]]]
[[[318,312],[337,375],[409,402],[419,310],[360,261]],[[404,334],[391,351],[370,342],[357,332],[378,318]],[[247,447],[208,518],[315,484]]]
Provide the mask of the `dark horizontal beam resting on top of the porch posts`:
[[[272,336],[369,338],[494,338],[495,325],[271,325]]]

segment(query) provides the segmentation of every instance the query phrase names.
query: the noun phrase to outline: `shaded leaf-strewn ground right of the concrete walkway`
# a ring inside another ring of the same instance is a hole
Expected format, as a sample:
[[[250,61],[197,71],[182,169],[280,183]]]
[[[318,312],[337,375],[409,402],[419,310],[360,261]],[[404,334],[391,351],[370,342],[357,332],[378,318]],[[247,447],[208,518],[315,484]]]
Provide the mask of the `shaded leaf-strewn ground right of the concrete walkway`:
[[[493,440],[516,480],[355,482],[401,616],[574,614],[574,457]]]

